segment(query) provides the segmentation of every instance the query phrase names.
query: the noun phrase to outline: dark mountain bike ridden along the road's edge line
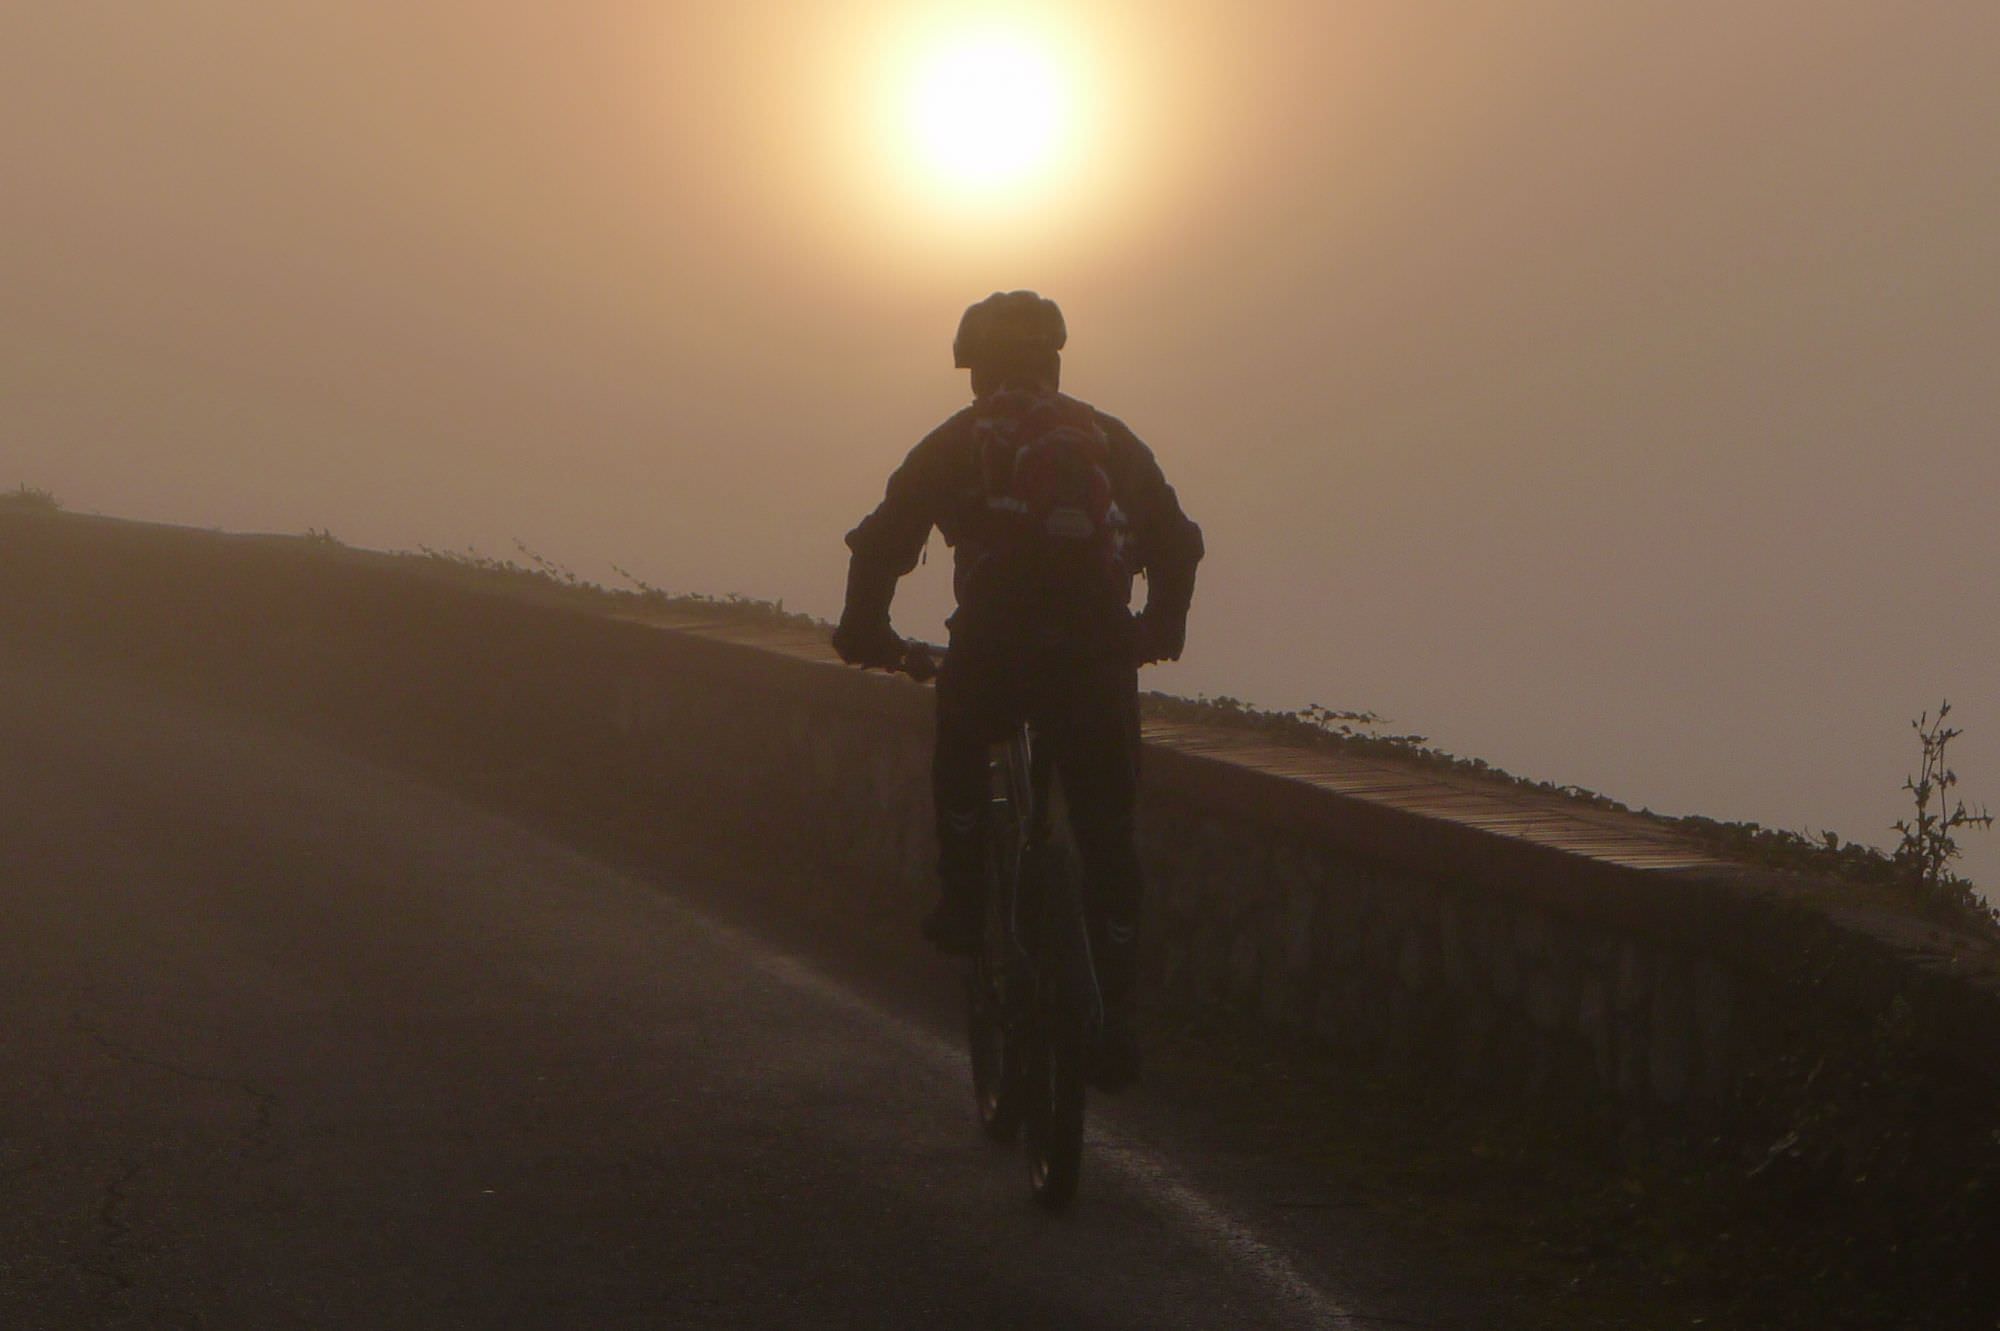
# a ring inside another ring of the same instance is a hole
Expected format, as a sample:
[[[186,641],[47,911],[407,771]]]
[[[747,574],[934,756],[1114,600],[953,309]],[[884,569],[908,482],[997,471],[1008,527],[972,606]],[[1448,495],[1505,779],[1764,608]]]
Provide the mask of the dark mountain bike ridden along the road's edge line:
[[[936,675],[934,650],[912,648],[904,671]],[[1022,721],[988,769],[986,893],[964,977],[972,1095],[988,1137],[1020,1137],[1036,1203],[1062,1211],[1082,1173],[1084,1079],[1104,995],[1054,753]]]

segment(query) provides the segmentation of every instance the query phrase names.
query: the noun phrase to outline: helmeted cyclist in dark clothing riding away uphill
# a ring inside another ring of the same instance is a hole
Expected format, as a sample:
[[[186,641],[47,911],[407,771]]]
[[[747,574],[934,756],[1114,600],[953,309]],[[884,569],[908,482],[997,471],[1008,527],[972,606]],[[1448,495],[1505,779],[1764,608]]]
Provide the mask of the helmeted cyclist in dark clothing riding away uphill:
[[[852,666],[904,662],[890,602],[938,528],[954,552],[958,610],[932,761],[942,891],[924,935],[946,953],[976,945],[988,747],[1034,719],[1086,871],[1104,991],[1092,1079],[1118,1089],[1138,1075],[1138,667],[1180,658],[1202,530],[1138,436],[1058,392],[1066,338],[1062,312],[1034,292],[996,292],[966,310],[952,360],[972,372],[972,406],[910,450],[882,504],[848,534],[834,648]],[[1134,616],[1140,574],[1146,608]]]

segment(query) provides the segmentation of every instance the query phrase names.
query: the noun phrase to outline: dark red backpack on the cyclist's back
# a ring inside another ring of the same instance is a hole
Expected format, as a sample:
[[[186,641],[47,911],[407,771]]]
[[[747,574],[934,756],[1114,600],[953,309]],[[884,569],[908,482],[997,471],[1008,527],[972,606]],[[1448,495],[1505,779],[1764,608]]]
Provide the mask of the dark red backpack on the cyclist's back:
[[[1044,584],[1124,578],[1130,590],[1126,514],[1096,412],[1062,394],[1002,390],[972,430],[988,530],[1006,562]]]

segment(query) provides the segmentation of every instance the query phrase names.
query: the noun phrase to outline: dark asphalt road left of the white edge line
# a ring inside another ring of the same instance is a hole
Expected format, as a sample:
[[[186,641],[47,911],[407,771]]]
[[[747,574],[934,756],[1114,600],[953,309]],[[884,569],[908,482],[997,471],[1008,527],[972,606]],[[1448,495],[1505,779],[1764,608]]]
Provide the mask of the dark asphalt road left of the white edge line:
[[[1376,1325],[958,1049],[244,721],[0,664],[0,1327]]]

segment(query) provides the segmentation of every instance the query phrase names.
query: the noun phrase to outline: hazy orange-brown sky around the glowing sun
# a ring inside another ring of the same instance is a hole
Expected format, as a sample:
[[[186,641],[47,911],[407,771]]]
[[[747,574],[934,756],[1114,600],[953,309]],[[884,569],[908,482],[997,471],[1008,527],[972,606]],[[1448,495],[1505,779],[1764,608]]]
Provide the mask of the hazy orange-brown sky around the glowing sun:
[[[1068,106],[986,200],[900,100],[968,24]],[[832,616],[1034,286],[1208,532],[1156,687],[1882,841],[1940,695],[2000,803],[1996,52],[1992,0],[10,0],[0,486]]]

